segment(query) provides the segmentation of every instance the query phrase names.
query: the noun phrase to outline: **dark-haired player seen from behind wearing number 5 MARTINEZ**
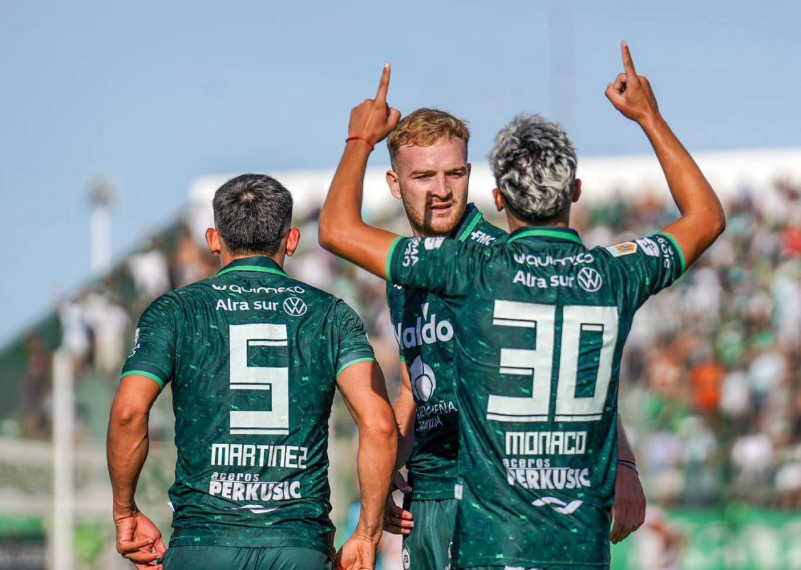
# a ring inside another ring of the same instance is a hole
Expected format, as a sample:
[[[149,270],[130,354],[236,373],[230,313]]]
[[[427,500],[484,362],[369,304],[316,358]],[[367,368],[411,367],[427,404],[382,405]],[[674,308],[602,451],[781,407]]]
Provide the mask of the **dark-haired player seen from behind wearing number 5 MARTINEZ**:
[[[374,568],[397,440],[364,327],[343,301],[284,273],[300,232],[275,179],[229,180],[214,215],[206,239],[223,269],[147,307],[111,408],[117,548],[139,568],[162,557],[165,570],[332,568],[328,416],[339,387],[359,427],[361,492],[339,564]],[[148,412],[167,383],[178,461],[165,549],[134,495]]]

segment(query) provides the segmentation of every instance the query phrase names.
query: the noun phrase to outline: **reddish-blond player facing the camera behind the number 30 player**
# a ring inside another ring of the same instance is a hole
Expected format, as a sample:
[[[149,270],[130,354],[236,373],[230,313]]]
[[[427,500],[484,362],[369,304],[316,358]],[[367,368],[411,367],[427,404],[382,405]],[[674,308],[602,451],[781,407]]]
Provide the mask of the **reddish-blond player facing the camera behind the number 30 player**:
[[[413,111],[389,134],[392,170],[387,172],[387,183],[402,201],[416,237],[447,235],[489,247],[506,236],[467,203],[469,137],[464,121],[436,109]],[[409,469],[411,487],[396,474],[396,487],[409,493],[405,496],[409,502],[401,509],[390,499],[384,528],[404,535],[407,568],[444,570],[457,507],[453,313],[433,293],[391,283],[387,283],[387,303],[400,345],[401,390],[395,404],[398,464],[405,462]],[[618,469],[615,484],[613,542],[638,528],[645,516],[634,453],[620,426],[618,422],[618,456],[627,468]]]

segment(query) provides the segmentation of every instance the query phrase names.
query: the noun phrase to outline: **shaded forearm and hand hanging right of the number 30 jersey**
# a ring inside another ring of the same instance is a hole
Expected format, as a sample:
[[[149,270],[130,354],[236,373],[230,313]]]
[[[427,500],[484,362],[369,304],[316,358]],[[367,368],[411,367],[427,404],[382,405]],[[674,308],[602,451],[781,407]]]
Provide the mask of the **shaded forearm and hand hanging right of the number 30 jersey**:
[[[646,520],[646,496],[635,464],[629,438],[618,417],[618,475],[614,481],[612,544],[625,539]]]

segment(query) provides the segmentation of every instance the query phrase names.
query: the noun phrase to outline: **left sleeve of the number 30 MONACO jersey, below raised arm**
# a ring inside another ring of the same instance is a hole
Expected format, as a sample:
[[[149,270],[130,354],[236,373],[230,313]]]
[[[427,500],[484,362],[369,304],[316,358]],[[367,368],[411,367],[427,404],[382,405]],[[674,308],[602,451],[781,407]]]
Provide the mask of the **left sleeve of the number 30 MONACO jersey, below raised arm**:
[[[444,237],[398,238],[387,257],[387,281],[442,297],[462,297],[490,249]]]

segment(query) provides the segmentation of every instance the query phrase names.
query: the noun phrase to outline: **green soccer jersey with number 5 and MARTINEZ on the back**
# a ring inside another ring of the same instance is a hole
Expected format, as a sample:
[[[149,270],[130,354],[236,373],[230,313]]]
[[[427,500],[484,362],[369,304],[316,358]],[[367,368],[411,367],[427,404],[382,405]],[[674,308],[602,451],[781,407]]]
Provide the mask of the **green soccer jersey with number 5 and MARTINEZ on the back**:
[[[328,415],[336,376],[373,360],[359,316],[267,257],[156,299],[123,376],[171,383],[171,546],[333,553]]]

